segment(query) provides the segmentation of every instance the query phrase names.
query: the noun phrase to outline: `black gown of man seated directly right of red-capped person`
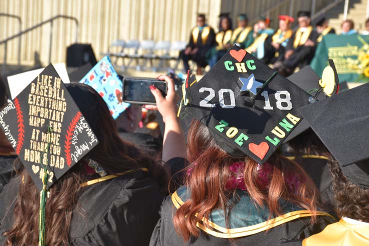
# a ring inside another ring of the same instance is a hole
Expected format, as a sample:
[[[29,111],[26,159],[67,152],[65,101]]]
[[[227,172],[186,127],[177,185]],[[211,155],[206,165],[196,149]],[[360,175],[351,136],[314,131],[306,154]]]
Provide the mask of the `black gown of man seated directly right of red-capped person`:
[[[314,52],[316,48],[316,39],[319,34],[315,30],[311,30],[308,39],[315,43],[314,46],[299,45],[296,48],[293,47],[293,41],[296,36],[296,31],[293,32],[292,36],[289,38],[286,50],[293,49],[293,54],[283,61],[283,65],[287,68],[293,70],[297,66],[304,66],[310,63],[314,57]]]

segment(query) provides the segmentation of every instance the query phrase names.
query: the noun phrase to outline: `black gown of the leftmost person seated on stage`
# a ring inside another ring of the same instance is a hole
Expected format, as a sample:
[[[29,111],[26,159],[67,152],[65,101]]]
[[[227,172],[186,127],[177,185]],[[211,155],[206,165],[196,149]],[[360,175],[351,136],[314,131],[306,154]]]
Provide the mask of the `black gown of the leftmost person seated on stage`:
[[[187,47],[191,47],[192,49],[198,48],[198,51],[195,54],[189,54],[189,55],[185,55],[183,50],[181,51],[180,56],[183,59],[183,65],[184,65],[185,70],[187,70],[188,68],[188,60],[193,60],[194,62],[196,62],[197,66],[199,67],[205,67],[207,65],[206,54],[211,49],[212,46],[216,45],[216,41],[215,41],[214,29],[211,28],[210,26],[206,26],[206,27],[209,28],[209,33],[204,43],[202,42],[202,38],[201,38],[202,31],[198,32],[196,40],[193,40],[193,35],[192,35],[193,29],[191,30],[191,33],[189,34],[189,42],[188,42]],[[198,27],[194,27],[194,28],[198,28]]]

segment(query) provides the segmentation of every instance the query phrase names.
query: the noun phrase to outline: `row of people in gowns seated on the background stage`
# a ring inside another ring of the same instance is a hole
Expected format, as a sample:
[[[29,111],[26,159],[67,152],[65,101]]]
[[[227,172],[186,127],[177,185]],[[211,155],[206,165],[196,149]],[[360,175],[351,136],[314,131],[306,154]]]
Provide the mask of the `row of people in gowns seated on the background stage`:
[[[324,35],[335,33],[325,16],[315,19],[312,25],[310,12],[303,10],[297,13],[296,18],[279,15],[277,30],[270,28],[272,20],[264,16],[260,16],[253,26],[248,26],[247,14],[239,14],[234,29],[229,13],[222,13],[219,18],[219,31],[215,34],[214,29],[206,24],[206,16],[197,15],[197,26],[192,29],[188,46],[180,54],[185,70],[189,69],[188,60],[191,59],[197,65],[197,74],[202,74],[201,68],[207,64],[212,67],[233,44],[237,44],[283,76],[288,76],[296,67],[310,63]],[[292,30],[294,21],[298,26]],[[352,20],[341,23],[341,35],[355,33]],[[369,19],[365,21],[361,34],[369,34]]]

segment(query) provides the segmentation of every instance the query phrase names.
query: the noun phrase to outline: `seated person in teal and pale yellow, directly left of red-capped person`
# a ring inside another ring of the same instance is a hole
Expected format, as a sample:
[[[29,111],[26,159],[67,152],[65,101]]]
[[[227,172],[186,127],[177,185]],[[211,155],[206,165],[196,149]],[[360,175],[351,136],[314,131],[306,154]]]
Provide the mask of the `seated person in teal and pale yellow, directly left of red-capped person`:
[[[274,33],[274,29],[269,27],[270,19],[268,17],[260,16],[257,23],[253,26],[253,42],[246,47],[246,51],[256,56],[258,59],[264,58],[264,42],[266,38]]]

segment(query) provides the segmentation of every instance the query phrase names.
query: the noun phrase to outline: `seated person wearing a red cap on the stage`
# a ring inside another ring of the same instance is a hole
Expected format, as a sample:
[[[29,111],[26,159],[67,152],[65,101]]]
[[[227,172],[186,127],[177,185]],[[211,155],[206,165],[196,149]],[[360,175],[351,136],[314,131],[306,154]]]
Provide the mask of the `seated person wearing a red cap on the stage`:
[[[264,42],[264,57],[261,59],[265,64],[274,63],[284,57],[285,47],[292,35],[291,23],[294,19],[288,15],[279,15],[279,28]]]

